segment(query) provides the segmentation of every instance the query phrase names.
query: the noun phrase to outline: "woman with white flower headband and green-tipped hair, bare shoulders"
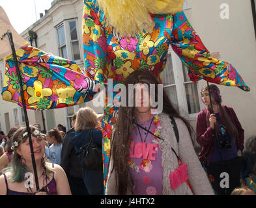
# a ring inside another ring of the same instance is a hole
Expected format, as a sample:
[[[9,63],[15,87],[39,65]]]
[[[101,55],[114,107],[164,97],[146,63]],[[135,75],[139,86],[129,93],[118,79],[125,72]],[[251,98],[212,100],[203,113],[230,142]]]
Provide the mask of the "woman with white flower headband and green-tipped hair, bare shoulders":
[[[44,140],[35,127],[30,127],[40,190],[36,192],[33,165],[26,127],[20,127],[12,137],[14,150],[11,166],[0,176],[1,195],[70,194],[63,168],[45,160]]]

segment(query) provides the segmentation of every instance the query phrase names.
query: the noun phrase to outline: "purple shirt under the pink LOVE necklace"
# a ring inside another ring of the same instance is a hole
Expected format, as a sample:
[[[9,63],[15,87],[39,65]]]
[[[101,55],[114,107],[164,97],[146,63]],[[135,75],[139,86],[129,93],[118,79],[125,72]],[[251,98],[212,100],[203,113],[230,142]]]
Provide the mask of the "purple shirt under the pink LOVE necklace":
[[[137,123],[145,129],[149,129],[151,121],[152,118],[146,122]],[[156,126],[152,122],[150,132],[153,133],[154,129],[156,129]],[[137,125],[134,125],[132,131],[129,164],[135,183],[135,195],[162,195],[162,152],[158,147],[158,139],[150,133],[147,134],[147,131],[137,127]]]

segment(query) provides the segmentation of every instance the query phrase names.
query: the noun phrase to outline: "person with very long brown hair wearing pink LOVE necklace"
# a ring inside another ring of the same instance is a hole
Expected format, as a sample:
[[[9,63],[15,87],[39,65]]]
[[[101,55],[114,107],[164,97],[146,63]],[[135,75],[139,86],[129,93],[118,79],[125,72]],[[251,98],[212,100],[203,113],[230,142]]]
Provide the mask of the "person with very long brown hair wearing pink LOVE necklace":
[[[148,70],[136,70],[124,81],[126,89],[129,84],[146,91],[139,90],[141,98],[134,93],[131,99],[135,107],[119,108],[106,194],[214,194],[193,149],[192,127],[178,114],[165,91],[162,103],[158,103],[164,105],[163,112],[152,114],[150,100],[158,98],[158,90],[155,98],[150,98],[147,89],[150,84],[158,85],[156,78]],[[126,94],[127,103],[128,99]],[[149,105],[145,105],[147,101]],[[178,140],[169,116],[177,123]]]

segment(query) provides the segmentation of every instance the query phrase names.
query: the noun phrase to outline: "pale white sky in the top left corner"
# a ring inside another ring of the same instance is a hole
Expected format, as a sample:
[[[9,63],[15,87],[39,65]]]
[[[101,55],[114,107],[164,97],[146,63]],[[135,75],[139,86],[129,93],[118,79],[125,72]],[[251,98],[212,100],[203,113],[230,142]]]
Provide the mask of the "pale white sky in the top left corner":
[[[18,33],[27,29],[40,19],[39,14],[51,7],[53,0],[0,0],[0,5],[7,13],[10,23]]]

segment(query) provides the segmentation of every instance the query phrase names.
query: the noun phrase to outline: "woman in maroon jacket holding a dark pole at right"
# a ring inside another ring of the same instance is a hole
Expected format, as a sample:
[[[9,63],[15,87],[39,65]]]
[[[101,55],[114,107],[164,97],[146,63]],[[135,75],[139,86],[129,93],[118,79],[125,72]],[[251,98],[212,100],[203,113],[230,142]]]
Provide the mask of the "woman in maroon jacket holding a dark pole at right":
[[[212,178],[216,193],[231,194],[232,190],[240,185],[240,158],[238,156],[242,156],[244,149],[244,129],[242,129],[235,110],[227,105],[221,105],[220,89],[216,85],[204,86],[201,96],[206,109],[197,114],[196,120],[196,138],[202,147],[199,159]],[[215,138],[215,128],[217,128],[220,147]],[[230,188],[227,192],[225,192],[225,188],[220,187],[220,174],[214,173],[214,170],[220,169],[216,166],[221,161],[220,153],[223,161],[229,161],[229,164],[224,166],[232,164],[236,166],[229,173]]]

